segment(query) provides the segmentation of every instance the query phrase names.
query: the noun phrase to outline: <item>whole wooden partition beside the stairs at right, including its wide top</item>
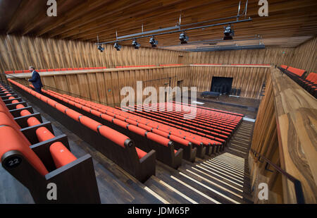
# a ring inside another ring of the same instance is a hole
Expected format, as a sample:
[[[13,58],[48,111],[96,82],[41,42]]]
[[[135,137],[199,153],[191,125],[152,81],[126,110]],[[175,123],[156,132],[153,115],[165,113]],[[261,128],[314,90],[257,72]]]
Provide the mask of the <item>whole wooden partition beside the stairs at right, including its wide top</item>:
[[[304,201],[317,202],[317,102],[277,68],[271,69],[266,96],[259,107],[251,150],[271,160],[273,164],[297,178],[302,184]],[[268,183],[271,195],[264,202],[296,203],[294,183],[272,167],[266,170],[250,152],[249,165],[254,202],[259,183]],[[282,188],[280,188],[282,187]],[[282,190],[282,193],[280,191]]]

